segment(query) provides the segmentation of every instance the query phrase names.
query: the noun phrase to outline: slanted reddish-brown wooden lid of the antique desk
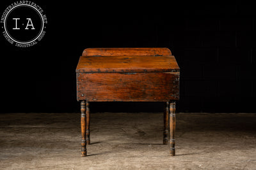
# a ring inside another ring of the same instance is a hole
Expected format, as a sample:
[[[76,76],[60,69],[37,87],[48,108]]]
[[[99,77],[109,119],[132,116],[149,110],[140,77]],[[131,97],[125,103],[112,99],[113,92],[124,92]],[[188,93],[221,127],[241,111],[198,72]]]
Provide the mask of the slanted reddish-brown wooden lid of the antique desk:
[[[179,72],[173,55],[81,56],[76,73]]]

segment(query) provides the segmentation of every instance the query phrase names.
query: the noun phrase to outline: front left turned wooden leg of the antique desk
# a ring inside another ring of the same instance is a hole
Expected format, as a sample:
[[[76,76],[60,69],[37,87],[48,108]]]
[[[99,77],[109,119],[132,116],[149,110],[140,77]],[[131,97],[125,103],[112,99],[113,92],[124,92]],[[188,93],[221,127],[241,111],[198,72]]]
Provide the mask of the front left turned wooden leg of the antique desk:
[[[86,138],[85,138],[85,134],[86,134],[86,107],[85,107],[85,101],[81,101],[81,134],[82,134],[82,157],[86,156]]]

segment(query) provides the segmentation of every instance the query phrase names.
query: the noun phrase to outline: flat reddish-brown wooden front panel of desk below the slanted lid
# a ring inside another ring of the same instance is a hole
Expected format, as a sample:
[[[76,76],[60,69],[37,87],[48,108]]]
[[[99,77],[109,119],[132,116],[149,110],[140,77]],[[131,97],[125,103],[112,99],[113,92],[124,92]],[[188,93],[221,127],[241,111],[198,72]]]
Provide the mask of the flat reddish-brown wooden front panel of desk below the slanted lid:
[[[179,99],[172,73],[77,73],[77,100],[169,101]]]

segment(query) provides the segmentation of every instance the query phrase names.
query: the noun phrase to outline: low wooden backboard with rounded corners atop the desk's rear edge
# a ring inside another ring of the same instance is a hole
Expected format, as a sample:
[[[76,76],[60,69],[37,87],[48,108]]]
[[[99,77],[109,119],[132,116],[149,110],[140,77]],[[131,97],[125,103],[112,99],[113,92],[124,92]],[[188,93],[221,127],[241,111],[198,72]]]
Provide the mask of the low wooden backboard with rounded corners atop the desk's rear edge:
[[[84,56],[172,55],[168,48],[86,48]]]

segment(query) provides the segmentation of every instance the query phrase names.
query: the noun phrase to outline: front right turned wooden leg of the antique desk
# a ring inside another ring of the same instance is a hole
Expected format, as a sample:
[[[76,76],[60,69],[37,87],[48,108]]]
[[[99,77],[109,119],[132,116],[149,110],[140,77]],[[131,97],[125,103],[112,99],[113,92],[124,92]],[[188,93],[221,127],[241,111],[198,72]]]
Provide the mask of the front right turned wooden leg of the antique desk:
[[[175,156],[175,101],[170,102],[170,155]]]

